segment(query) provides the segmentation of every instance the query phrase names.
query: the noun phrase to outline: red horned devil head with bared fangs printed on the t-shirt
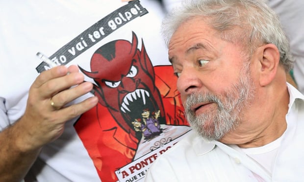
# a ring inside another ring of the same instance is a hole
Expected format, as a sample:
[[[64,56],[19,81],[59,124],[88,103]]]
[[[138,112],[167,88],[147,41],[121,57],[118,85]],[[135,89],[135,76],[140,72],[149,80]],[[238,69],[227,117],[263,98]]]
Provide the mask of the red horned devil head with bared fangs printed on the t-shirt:
[[[95,51],[91,59],[91,72],[81,71],[94,79],[95,95],[101,105],[108,108],[116,122],[135,137],[132,122],[140,118],[142,108],[160,110],[160,123],[164,109],[158,89],[154,85],[154,71],[144,44],[137,48],[137,37],[132,33],[132,44],[126,40],[109,42]],[[102,122],[102,121],[100,121]],[[141,134],[138,135],[141,138]]]

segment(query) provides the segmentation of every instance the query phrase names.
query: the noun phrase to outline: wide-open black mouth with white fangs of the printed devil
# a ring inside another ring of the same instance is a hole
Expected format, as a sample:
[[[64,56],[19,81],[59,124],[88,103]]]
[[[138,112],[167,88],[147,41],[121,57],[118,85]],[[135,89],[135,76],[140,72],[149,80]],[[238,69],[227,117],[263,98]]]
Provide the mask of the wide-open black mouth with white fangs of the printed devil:
[[[136,89],[125,95],[120,110],[126,119],[133,120],[141,118],[144,109],[154,112],[157,108],[156,102],[149,91]]]

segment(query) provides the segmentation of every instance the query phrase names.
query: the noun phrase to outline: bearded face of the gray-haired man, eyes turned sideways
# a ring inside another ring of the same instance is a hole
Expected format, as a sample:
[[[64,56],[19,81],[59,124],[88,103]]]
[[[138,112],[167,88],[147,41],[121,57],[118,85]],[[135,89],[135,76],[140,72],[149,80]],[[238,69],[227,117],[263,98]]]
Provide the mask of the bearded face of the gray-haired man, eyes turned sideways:
[[[207,139],[219,140],[238,126],[253,100],[250,65],[242,50],[199,18],[182,23],[169,43],[187,119]]]

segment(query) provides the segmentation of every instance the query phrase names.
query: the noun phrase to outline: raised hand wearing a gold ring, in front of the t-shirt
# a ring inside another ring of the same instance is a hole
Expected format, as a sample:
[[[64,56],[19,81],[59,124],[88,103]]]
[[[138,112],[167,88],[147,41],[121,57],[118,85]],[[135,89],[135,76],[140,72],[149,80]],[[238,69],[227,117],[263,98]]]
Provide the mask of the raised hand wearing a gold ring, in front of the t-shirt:
[[[98,98],[93,96],[65,107],[92,90],[93,84],[83,81],[84,76],[76,66],[51,68],[36,78],[29,89],[25,114],[18,123],[23,129],[16,141],[21,148],[35,150],[55,140],[63,133],[66,121],[98,103]]]

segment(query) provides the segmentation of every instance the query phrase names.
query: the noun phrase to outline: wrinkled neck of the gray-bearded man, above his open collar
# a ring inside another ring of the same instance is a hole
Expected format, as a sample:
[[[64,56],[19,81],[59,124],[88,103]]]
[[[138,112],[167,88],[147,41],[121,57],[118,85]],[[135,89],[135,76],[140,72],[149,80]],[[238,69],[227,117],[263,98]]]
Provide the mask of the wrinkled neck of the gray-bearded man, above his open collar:
[[[220,141],[225,144],[236,144],[241,148],[252,148],[264,146],[282,136],[287,128],[285,119],[289,103],[287,88],[284,93],[281,92],[272,99],[276,99],[277,104],[267,105],[265,102],[265,105],[260,108],[253,107],[258,109],[247,112],[251,115],[244,118],[248,119],[240,121],[239,125]],[[270,101],[268,100],[268,102]]]

